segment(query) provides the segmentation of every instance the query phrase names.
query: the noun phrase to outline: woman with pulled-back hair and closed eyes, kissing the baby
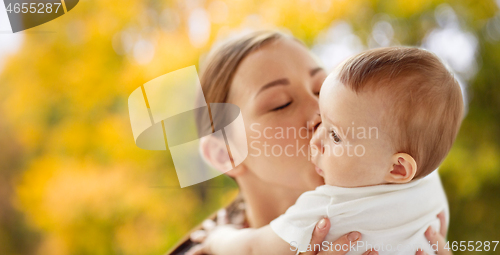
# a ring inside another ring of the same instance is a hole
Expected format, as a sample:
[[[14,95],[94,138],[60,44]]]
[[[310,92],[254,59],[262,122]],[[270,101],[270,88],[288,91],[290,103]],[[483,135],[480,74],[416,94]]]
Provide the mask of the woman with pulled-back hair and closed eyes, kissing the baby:
[[[308,144],[320,124],[318,95],[327,74],[299,40],[275,31],[258,31],[215,47],[201,72],[207,103],[240,107],[245,122],[248,157],[226,172],[239,185],[245,204],[245,227],[269,224],[293,205],[300,194],[323,185],[308,160]],[[208,128],[208,127],[202,127]],[[203,156],[214,167],[228,164],[225,145],[213,140],[201,144]],[[442,216],[440,216],[442,218]],[[442,225],[446,226],[442,219]],[[320,244],[330,223],[321,220],[311,244]],[[431,243],[442,235],[426,232]],[[203,241],[199,236],[197,241]],[[334,243],[360,240],[359,232],[346,233]],[[313,246],[314,247],[314,246]],[[190,250],[206,251],[203,244]],[[312,251],[309,254],[346,254],[346,251]],[[374,253],[376,254],[376,253]],[[445,253],[440,249],[438,254]]]

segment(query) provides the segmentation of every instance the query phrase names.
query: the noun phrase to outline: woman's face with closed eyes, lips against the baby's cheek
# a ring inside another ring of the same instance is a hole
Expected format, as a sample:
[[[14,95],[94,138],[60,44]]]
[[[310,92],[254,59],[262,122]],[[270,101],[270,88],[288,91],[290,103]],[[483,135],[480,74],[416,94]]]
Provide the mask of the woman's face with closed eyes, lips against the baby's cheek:
[[[280,39],[250,53],[233,78],[229,103],[240,107],[248,141],[243,167],[264,182],[299,190],[323,184],[309,161],[320,122],[325,71],[308,49]]]

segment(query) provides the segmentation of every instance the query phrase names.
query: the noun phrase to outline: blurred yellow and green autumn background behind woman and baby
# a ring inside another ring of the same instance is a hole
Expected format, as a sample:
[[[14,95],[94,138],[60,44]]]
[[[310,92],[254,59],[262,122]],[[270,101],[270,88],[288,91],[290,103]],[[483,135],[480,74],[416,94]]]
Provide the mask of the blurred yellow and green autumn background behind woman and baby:
[[[153,78],[198,65],[213,42],[259,28],[303,40],[328,70],[380,46],[422,46],[442,57],[468,97],[440,168],[448,240],[498,241],[499,5],[83,0],[47,24],[2,33],[0,254],[163,254],[228,203],[237,192],[229,178],[180,189],[167,152],[135,146],[127,98]]]

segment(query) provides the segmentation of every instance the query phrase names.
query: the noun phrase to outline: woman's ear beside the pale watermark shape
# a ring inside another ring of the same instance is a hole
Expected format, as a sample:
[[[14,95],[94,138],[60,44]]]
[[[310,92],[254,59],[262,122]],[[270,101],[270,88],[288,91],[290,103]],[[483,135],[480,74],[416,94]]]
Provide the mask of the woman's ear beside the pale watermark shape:
[[[228,147],[223,139],[219,139],[213,135],[208,135],[200,139],[200,153],[207,164],[216,170],[221,171],[231,177],[236,177],[241,174],[242,165],[233,169],[233,164]],[[241,169],[241,171],[238,171]]]

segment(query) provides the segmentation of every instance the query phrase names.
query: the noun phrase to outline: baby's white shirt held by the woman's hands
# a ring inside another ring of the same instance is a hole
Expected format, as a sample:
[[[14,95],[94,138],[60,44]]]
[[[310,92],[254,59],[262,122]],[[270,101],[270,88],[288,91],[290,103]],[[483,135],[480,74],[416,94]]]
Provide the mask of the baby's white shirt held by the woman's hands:
[[[415,254],[421,248],[434,254],[424,232],[439,231],[437,215],[444,211],[449,223],[448,201],[437,171],[406,184],[342,188],[330,185],[303,193],[295,205],[271,222],[274,232],[297,253],[305,252],[314,227],[328,217],[331,227],[325,240],[333,242],[351,231],[359,231],[359,247],[349,255],[378,248],[380,255]],[[325,243],[323,243],[325,244]],[[322,250],[331,249],[329,243]],[[311,247],[313,248],[313,247]],[[333,246],[333,249],[340,247]],[[343,247],[347,248],[346,246]],[[316,250],[318,250],[316,248]]]

